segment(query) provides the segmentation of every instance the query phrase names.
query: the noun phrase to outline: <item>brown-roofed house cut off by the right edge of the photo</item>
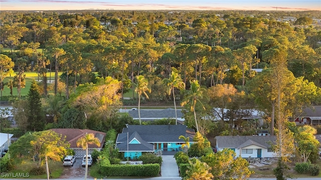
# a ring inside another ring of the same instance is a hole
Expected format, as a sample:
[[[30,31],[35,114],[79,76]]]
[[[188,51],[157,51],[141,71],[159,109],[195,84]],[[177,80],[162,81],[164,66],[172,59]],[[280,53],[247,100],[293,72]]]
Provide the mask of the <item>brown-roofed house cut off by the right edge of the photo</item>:
[[[299,117],[294,120],[296,125],[311,124],[317,125],[321,124],[321,106],[307,107],[303,110]]]

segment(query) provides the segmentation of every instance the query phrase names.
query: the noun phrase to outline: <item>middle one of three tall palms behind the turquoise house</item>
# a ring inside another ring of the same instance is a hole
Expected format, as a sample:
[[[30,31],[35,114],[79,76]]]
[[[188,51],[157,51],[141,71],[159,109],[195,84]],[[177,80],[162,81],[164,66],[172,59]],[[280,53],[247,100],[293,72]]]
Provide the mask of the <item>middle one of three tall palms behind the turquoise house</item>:
[[[177,72],[172,72],[170,78],[163,79],[164,83],[169,87],[167,93],[171,95],[173,91],[173,99],[174,99],[174,107],[175,107],[175,119],[177,125],[177,110],[176,110],[176,102],[175,102],[175,90],[174,88],[178,89],[185,89],[185,83],[182,81],[181,76]]]

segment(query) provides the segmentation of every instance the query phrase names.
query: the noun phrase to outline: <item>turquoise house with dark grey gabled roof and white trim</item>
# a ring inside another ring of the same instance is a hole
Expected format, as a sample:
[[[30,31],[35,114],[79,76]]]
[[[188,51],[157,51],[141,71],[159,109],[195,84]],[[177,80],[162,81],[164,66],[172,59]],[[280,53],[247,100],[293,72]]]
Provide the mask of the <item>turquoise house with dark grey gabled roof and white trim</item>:
[[[124,157],[136,158],[142,152],[176,153],[185,142],[184,135],[193,143],[195,130],[186,125],[127,125],[117,135],[116,148],[124,152]]]

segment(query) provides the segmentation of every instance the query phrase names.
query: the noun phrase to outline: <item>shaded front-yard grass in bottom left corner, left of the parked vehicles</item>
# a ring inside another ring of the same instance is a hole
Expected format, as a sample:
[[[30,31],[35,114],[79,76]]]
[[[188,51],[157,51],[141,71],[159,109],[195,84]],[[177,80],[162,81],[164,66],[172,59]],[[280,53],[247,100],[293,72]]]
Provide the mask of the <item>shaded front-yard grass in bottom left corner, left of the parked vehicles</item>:
[[[51,170],[51,178],[58,178],[61,176],[64,166],[62,165],[62,162],[58,161],[49,161],[48,163],[49,169]],[[25,178],[35,178],[35,179],[47,179],[47,174],[42,174],[42,175],[32,175],[30,174],[30,170],[32,168],[36,167],[36,164],[33,160],[28,160],[24,161],[19,164],[15,164],[15,167],[13,170],[9,171],[9,173],[14,173],[15,174],[24,174]],[[43,167],[46,169],[45,164]],[[29,175],[29,177],[27,176]],[[21,178],[21,177],[3,177],[2,178]]]

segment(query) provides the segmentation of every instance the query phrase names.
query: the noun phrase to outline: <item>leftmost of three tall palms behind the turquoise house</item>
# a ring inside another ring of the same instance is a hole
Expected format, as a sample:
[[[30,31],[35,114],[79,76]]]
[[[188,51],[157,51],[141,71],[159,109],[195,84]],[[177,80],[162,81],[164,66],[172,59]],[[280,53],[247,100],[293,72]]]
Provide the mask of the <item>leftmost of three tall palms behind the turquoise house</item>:
[[[149,98],[146,92],[151,92],[150,87],[148,86],[148,80],[143,75],[136,76],[137,83],[134,83],[135,92],[138,94],[138,117],[139,124],[141,124],[140,120],[140,95],[143,93],[146,98]]]

